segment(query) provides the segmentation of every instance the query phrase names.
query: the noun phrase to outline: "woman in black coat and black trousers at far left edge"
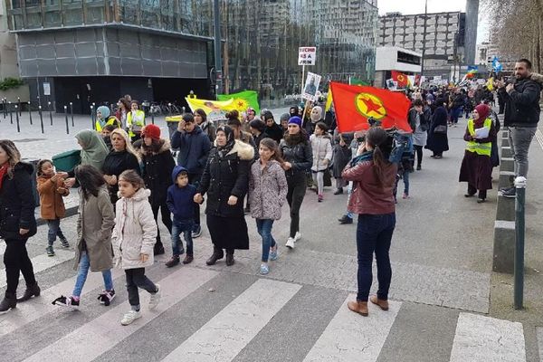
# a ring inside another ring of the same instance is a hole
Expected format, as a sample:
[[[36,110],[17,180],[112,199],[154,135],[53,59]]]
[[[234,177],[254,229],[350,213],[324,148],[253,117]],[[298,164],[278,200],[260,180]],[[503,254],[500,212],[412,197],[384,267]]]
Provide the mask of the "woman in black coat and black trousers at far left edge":
[[[33,166],[21,161],[21,154],[8,139],[0,140],[0,238],[5,240],[7,289],[0,313],[15,308],[17,301],[40,295],[26,241],[36,233],[35,200],[31,176]],[[20,272],[26,282],[23,297],[17,300]]]

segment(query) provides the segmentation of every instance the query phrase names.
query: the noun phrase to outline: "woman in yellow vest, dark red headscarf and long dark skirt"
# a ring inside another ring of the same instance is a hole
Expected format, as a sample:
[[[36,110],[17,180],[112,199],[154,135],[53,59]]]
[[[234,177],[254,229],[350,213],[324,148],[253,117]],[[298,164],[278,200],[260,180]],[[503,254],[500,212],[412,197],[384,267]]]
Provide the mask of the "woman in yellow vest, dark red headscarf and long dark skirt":
[[[468,183],[468,192],[464,196],[472,197],[479,191],[478,203],[484,203],[487,190],[492,188],[492,142],[496,140],[496,128],[489,114],[491,109],[480,104],[473,110],[473,119],[468,120],[464,140],[467,142],[460,182]]]

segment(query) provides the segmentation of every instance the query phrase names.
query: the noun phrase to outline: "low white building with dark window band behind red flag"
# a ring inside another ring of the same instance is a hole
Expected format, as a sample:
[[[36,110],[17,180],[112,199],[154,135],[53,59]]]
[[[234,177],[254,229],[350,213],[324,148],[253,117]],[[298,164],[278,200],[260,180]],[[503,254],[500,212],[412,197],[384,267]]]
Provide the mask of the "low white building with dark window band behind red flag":
[[[421,73],[423,54],[395,46],[378,47],[376,49],[376,79],[374,86],[386,88],[386,80],[392,71],[401,71],[405,75]]]

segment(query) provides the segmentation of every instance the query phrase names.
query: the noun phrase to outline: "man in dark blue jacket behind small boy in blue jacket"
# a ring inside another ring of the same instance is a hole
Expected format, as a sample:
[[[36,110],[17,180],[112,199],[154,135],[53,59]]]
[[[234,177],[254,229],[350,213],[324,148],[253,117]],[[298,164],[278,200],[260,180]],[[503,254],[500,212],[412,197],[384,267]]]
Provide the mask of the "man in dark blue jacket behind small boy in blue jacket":
[[[179,148],[177,166],[185,167],[188,171],[188,182],[198,186],[204,173],[205,163],[211,149],[211,141],[195,122],[191,113],[185,113],[172,135],[172,148]],[[195,229],[192,237],[197,238],[202,233],[200,227],[200,205],[195,204]]]

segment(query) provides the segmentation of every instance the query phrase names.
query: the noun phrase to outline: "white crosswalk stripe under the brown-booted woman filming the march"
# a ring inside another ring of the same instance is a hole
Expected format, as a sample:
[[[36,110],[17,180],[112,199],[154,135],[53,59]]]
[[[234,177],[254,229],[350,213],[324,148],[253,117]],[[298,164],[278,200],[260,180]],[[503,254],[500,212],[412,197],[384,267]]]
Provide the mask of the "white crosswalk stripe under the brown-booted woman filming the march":
[[[391,301],[386,313],[368,303],[369,316],[365,318],[347,308],[347,302],[356,297],[348,296],[304,362],[376,361],[402,303]]]

